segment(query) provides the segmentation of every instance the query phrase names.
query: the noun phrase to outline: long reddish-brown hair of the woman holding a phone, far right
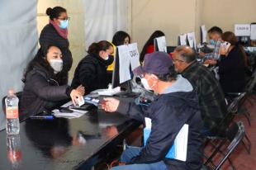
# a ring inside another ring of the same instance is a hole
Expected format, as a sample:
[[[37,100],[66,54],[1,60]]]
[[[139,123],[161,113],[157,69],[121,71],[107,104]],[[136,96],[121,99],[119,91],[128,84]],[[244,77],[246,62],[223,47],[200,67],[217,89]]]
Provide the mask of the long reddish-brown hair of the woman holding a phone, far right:
[[[247,55],[245,54],[244,47],[242,45],[239,45],[239,42],[235,34],[231,31],[226,31],[221,35],[221,39],[229,42],[230,45],[238,46],[239,50],[241,51],[244,57],[244,65],[248,66],[248,58],[247,58]]]

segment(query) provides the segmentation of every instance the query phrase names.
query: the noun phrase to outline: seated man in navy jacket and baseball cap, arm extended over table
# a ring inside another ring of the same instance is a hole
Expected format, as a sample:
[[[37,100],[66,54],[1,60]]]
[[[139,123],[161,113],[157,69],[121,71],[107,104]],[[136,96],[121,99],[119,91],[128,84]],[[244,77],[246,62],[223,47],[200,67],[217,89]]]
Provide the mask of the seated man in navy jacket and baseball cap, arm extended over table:
[[[126,149],[121,155],[121,162],[126,165],[112,169],[199,170],[202,164],[202,121],[197,94],[191,83],[177,75],[172,59],[164,52],[146,54],[141,70],[145,88],[158,93],[154,102],[145,107],[105,98],[102,103],[105,111],[117,111],[141,121],[148,117],[152,122],[145,147]],[[188,125],[188,137],[187,159],[183,162],[166,155],[184,124]]]

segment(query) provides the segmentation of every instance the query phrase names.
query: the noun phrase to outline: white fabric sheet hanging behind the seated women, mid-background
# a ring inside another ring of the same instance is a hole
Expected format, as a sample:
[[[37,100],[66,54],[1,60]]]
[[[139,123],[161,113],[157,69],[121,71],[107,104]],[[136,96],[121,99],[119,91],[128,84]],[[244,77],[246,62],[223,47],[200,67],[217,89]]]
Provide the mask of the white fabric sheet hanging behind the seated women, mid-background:
[[[112,40],[116,31],[128,31],[128,0],[83,0],[86,47]]]

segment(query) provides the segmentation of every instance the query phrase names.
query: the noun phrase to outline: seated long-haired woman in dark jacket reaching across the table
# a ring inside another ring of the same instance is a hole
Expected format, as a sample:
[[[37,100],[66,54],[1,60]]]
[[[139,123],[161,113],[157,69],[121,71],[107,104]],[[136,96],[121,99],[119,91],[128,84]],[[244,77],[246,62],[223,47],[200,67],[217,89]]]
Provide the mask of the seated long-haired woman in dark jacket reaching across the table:
[[[59,85],[56,74],[63,68],[62,53],[55,45],[43,46],[26,68],[21,97],[21,114],[30,116],[49,111],[71,97],[73,104],[84,94],[84,87],[73,89]]]

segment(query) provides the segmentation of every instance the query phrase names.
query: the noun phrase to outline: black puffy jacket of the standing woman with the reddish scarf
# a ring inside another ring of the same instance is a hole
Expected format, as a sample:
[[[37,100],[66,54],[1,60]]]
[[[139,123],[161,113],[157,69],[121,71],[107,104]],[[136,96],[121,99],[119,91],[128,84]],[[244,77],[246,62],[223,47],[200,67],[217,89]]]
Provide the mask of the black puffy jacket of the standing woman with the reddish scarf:
[[[60,48],[63,55],[63,70],[61,74],[64,75],[62,76],[64,77],[64,83],[68,83],[68,72],[73,64],[72,54],[69,50],[69,40],[60,36],[55,27],[48,24],[40,33],[39,43],[40,46],[57,45]]]

